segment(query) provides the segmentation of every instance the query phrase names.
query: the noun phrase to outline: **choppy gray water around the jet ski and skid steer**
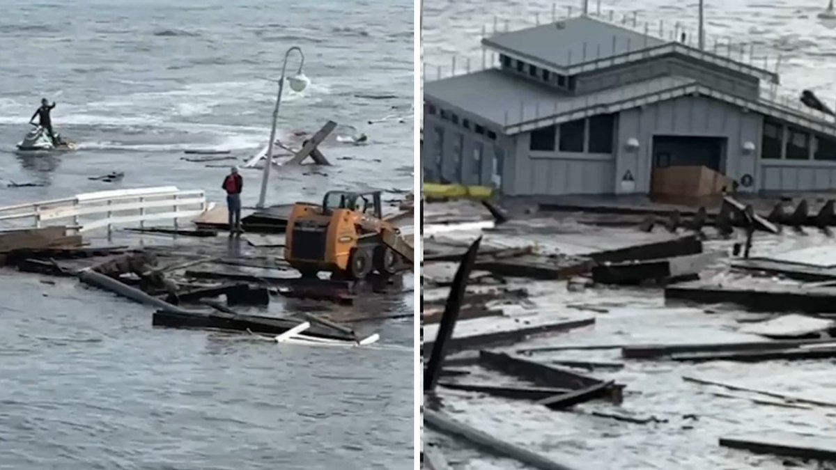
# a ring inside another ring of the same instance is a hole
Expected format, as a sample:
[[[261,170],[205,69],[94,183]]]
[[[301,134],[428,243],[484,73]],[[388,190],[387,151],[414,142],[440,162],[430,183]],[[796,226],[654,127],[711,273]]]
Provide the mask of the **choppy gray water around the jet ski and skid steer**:
[[[412,186],[409,1],[0,0],[0,12],[0,205],[160,184],[221,201],[227,169],[182,151],[242,159],[263,146],[276,92],[263,78],[292,45],[312,84],[286,89],[280,137],[336,120],[370,145],[330,141],[334,166],[273,171],[269,201]],[[55,128],[80,151],[11,152],[41,97],[58,102]],[[368,123],[388,115],[404,122]],[[88,180],[110,171],[125,180]],[[258,172],[242,174],[254,204]],[[411,321],[359,324],[380,333],[377,349],[280,347],[152,330],[150,309],[73,279],[3,271],[0,289],[0,468],[412,465]],[[375,308],[411,312],[411,295]],[[274,314],[298,308],[274,302]]]

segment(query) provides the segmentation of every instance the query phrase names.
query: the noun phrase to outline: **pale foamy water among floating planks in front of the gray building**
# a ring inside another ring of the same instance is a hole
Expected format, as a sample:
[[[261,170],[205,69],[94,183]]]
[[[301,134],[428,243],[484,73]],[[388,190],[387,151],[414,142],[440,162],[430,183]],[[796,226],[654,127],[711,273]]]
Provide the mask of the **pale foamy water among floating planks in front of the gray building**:
[[[559,230],[563,233],[579,233],[581,243],[584,240],[583,233],[595,231],[594,227],[579,226],[570,220],[559,222]],[[475,234],[466,232],[444,235],[448,242],[463,242],[473,237]],[[555,243],[549,243],[548,237],[532,238],[538,240],[542,250],[551,251],[556,248]],[[514,247],[526,246],[531,241],[517,235],[490,233],[483,243]],[[706,243],[706,250],[722,250],[727,253],[731,243],[711,241]],[[811,230],[806,236],[792,233],[781,236],[759,234],[752,253],[768,256],[770,253],[811,246],[836,250],[832,238],[825,238]],[[715,269],[721,268],[725,262],[721,260]],[[715,275],[716,280],[724,284],[736,282],[737,279],[724,273],[712,274],[711,271],[706,275]],[[666,306],[660,289],[608,289],[600,286],[584,292],[572,292],[567,289],[565,282],[528,282],[509,287],[523,286],[532,295],[537,308],[506,308],[506,314],[516,316],[518,321],[526,321],[534,315],[560,318],[594,315],[596,323],[589,328],[534,338],[504,348],[509,353],[521,348],[554,345],[712,343],[759,339],[740,331],[747,326],[743,321],[752,320],[751,314],[734,306]],[[604,313],[601,313],[602,309]],[[543,362],[558,359],[624,361],[618,349],[543,352],[533,354],[531,359]],[[816,462],[758,456],[726,449],[719,447],[717,441],[720,437],[767,432],[797,432],[833,437],[836,408],[813,406],[799,409],[757,404],[752,399],[762,400],[764,396],[697,385],[684,381],[682,377],[688,375],[833,402],[836,380],[833,379],[832,360],[765,361],[753,364],[629,360],[624,361],[622,370],[613,372],[599,369],[591,375],[623,383],[626,386],[624,403],[614,406],[603,401],[589,402],[574,406],[571,412],[559,412],[548,411],[543,406],[524,401],[507,401],[443,389],[441,393],[446,411],[456,419],[569,463],[574,468],[828,468]],[[519,383],[505,375],[476,367],[472,368],[472,375],[462,381]],[[655,417],[665,422],[634,424],[614,421],[606,417],[589,416],[592,411],[640,419]],[[522,468],[515,462],[489,457],[483,452],[463,446],[461,442],[440,437],[436,432],[428,432],[426,441],[437,442],[455,468]]]

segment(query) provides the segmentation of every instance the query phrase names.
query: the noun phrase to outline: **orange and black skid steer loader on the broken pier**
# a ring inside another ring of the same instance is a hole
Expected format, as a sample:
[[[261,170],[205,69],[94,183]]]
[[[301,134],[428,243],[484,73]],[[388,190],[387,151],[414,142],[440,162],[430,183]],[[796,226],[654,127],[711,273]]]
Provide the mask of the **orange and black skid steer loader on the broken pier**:
[[[293,206],[284,258],[304,277],[320,271],[355,280],[375,271],[391,275],[405,266],[403,257],[386,243],[393,236],[400,238],[400,232],[383,220],[380,192],[332,191],[321,206]]]

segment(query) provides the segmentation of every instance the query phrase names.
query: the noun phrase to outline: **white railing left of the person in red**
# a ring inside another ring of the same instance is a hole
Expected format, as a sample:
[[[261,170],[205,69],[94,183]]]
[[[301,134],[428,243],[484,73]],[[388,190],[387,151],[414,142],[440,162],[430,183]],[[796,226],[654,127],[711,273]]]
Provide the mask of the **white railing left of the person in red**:
[[[107,227],[110,235],[114,225],[139,222],[140,227],[144,227],[146,221],[173,219],[176,227],[178,219],[196,217],[205,211],[206,193],[202,190],[156,186],[86,192],[51,201],[0,207],[0,222],[8,224],[29,219],[33,223],[28,227],[40,228],[52,225],[50,222],[71,219],[72,222],[64,222],[64,225],[78,232]]]

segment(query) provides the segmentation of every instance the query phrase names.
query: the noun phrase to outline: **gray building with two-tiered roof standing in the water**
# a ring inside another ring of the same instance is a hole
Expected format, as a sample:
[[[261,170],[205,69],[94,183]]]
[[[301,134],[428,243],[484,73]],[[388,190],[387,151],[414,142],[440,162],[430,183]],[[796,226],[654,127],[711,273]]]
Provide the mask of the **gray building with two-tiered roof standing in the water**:
[[[775,100],[763,59],[588,17],[482,46],[496,66],[424,84],[425,181],[507,196],[647,193],[653,168],[702,165],[744,192],[836,188],[833,118]]]

